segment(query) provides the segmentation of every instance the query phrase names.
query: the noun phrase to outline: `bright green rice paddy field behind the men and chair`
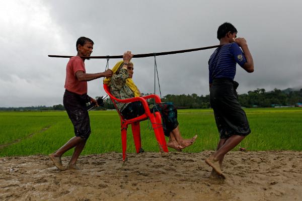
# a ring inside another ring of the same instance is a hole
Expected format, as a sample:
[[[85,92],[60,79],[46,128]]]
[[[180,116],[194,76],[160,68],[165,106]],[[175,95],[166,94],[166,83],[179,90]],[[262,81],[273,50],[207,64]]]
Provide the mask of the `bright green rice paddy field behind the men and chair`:
[[[302,150],[302,108],[245,109],[252,133],[239,145],[250,151]],[[121,152],[120,120],[116,111],[91,111],[92,134],[82,154]],[[178,110],[185,138],[198,134],[184,152],[214,150],[219,140],[211,109]],[[49,154],[74,136],[66,112],[0,112],[0,156]],[[159,151],[148,121],[141,122],[142,147]],[[131,128],[127,152],[134,152]],[[236,147],[234,150],[238,150]],[[172,150],[171,150],[172,151]],[[68,151],[66,155],[71,155]]]

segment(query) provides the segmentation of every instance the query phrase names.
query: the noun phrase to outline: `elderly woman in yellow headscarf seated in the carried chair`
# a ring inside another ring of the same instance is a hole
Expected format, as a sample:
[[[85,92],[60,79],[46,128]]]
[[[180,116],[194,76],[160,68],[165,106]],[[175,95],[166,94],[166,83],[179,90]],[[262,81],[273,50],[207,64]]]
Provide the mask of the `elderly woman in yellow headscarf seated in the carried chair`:
[[[113,76],[106,78],[104,83],[110,85],[113,96],[119,99],[127,99],[141,96],[140,91],[132,81],[133,63],[129,61],[119,61],[112,69]],[[181,151],[190,146],[196,140],[197,135],[191,139],[183,139],[181,137],[178,121],[177,110],[172,103],[149,106],[151,112],[159,111],[162,116],[163,129],[165,136],[169,137],[168,147]],[[117,103],[117,108],[125,119],[132,119],[144,114],[144,108],[141,102],[133,103]]]

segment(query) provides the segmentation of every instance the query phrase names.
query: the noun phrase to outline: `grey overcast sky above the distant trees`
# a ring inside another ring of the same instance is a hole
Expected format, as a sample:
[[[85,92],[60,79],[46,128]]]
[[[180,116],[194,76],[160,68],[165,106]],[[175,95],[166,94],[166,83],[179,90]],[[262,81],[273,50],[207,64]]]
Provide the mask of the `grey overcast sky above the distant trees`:
[[[62,104],[68,59],[75,42],[91,38],[92,56],[174,51],[219,44],[219,25],[231,22],[244,37],[255,71],[237,65],[239,93],[302,87],[301,1],[6,1],[0,7],[0,107]],[[208,58],[214,49],[158,56],[162,95],[206,95]],[[113,67],[119,61],[110,59]],[[133,80],[154,92],[154,58],[134,58]],[[85,61],[88,73],[103,72],[106,59]],[[88,94],[105,95],[103,79]],[[156,89],[158,93],[158,88]]]

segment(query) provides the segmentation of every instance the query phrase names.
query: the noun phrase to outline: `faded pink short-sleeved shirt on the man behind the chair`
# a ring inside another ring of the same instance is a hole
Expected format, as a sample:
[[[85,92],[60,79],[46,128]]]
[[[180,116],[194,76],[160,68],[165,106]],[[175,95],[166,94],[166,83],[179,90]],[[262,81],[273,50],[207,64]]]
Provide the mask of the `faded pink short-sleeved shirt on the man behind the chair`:
[[[66,66],[66,79],[64,87],[77,94],[87,93],[87,81],[79,81],[75,76],[77,71],[86,73],[84,61],[79,56],[71,57]]]

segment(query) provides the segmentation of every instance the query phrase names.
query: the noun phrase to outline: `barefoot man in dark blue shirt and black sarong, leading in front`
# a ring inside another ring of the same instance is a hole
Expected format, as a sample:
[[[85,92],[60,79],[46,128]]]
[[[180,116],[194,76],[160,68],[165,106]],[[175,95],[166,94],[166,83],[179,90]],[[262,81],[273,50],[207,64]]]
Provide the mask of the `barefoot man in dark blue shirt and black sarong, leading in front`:
[[[217,151],[205,159],[213,168],[211,177],[224,178],[221,170],[224,155],[251,133],[246,114],[238,102],[238,83],[234,77],[237,63],[247,72],[253,72],[254,62],[246,40],[236,36],[237,29],[231,23],[220,25],[217,39],[222,46],[213,52],[208,62],[210,104],[220,135]]]

